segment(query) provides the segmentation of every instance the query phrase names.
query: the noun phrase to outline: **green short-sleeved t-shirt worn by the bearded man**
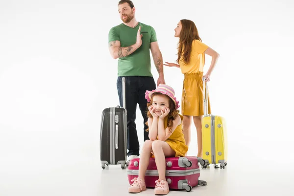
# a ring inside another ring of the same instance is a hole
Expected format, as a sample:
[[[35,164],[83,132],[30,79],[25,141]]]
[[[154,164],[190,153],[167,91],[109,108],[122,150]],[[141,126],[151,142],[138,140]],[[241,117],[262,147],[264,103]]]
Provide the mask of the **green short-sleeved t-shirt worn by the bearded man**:
[[[136,43],[137,32],[141,25],[142,45],[128,56],[119,58],[118,76],[151,76],[150,43],[156,42],[156,32],[150,25],[139,23],[135,28],[123,23],[114,26],[108,34],[108,42],[120,41],[121,47],[128,47]]]

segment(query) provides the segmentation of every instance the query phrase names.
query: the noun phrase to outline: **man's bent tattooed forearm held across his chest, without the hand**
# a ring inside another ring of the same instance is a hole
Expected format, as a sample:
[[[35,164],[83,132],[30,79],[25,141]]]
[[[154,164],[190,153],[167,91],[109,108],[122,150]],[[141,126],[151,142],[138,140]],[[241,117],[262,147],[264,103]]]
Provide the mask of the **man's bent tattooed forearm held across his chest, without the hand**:
[[[109,50],[114,59],[128,56],[136,51],[136,49],[138,49],[136,44],[129,47],[121,47],[121,43],[119,41],[113,41],[109,43]]]

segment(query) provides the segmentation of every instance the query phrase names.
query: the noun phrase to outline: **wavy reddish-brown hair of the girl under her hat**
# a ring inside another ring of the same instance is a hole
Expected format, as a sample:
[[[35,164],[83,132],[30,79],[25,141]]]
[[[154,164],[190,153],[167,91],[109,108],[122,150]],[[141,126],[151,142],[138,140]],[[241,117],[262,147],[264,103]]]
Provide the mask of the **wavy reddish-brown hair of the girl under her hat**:
[[[149,117],[151,119],[153,119],[153,116],[149,112],[148,107],[153,104],[153,97],[155,95],[163,95],[163,94],[161,94],[161,93],[153,93],[152,97],[151,97],[151,101],[147,103],[147,117]],[[179,110],[175,109],[175,104],[174,104],[173,100],[169,96],[167,96],[167,95],[164,95],[164,96],[166,96],[169,99],[170,113],[168,114],[168,127],[170,129],[172,129],[172,125],[173,125],[172,121],[175,120],[175,118],[177,117],[177,115],[179,113]],[[148,126],[148,122],[146,122],[145,124]],[[146,129],[146,131],[147,132],[149,131],[149,127]]]

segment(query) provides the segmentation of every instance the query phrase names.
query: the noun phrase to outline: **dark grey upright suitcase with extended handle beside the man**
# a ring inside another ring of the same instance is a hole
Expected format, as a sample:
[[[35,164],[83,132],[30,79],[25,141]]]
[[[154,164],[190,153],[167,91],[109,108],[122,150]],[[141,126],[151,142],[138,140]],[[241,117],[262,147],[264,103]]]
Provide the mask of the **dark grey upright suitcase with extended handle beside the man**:
[[[108,107],[102,111],[100,128],[100,161],[105,165],[126,164],[125,78],[123,77],[123,107]]]

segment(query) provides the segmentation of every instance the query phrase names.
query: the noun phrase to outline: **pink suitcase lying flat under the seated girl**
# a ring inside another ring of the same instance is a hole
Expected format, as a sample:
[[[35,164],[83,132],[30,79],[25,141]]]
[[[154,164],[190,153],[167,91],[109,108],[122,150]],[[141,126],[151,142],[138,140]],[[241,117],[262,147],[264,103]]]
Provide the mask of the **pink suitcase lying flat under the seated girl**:
[[[127,168],[128,181],[139,175],[140,158],[132,159]],[[170,189],[183,190],[187,192],[192,190],[192,187],[197,185],[205,186],[206,181],[199,180],[200,169],[198,162],[205,165],[205,161],[196,156],[187,157],[168,157],[166,158],[166,179]],[[154,188],[158,180],[158,171],[155,164],[155,159],[150,158],[149,165],[145,174],[146,187]]]

